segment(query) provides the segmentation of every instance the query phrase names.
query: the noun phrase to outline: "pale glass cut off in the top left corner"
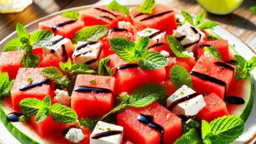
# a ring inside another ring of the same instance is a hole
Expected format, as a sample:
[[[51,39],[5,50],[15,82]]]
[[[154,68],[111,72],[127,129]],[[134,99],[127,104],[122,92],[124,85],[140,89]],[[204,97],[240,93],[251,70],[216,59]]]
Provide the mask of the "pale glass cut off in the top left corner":
[[[0,0],[0,13],[21,12],[32,0]]]

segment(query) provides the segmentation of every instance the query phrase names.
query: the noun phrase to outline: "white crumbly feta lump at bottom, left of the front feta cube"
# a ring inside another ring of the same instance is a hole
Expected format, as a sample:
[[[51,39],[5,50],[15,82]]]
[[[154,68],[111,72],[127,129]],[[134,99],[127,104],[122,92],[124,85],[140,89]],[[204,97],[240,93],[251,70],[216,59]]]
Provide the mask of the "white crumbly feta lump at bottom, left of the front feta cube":
[[[71,128],[67,132],[65,138],[73,143],[79,143],[84,139],[84,134],[81,129]]]

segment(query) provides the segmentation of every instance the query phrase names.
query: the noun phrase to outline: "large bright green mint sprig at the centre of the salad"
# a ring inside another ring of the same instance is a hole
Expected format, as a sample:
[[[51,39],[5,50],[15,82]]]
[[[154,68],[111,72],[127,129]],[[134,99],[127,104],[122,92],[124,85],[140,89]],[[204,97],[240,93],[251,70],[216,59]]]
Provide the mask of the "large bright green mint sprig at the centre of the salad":
[[[133,63],[138,61],[139,67],[154,70],[167,65],[167,59],[159,52],[147,51],[149,38],[142,37],[136,44],[127,38],[116,37],[110,39],[110,45],[123,60]]]

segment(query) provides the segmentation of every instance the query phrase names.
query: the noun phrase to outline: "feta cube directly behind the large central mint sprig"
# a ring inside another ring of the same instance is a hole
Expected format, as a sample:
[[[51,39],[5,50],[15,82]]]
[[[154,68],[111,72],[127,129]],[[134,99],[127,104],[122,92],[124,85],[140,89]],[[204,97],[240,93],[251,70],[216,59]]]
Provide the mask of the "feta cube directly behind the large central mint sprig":
[[[149,37],[149,45],[148,47],[155,47],[157,45],[164,44],[164,32],[158,29],[146,28],[142,31],[138,31],[136,35],[136,40],[139,40],[143,36]]]

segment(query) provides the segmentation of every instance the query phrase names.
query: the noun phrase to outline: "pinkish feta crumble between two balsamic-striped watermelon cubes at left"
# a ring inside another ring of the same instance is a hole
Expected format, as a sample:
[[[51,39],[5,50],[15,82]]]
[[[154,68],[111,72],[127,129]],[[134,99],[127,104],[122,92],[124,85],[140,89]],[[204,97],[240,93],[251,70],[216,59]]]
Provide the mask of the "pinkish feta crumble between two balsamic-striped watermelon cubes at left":
[[[63,104],[65,106],[70,105],[70,98],[71,97],[68,96],[67,91],[57,89],[56,91],[54,91],[54,93],[56,94],[56,96],[53,98],[54,102],[59,103],[59,104]]]

